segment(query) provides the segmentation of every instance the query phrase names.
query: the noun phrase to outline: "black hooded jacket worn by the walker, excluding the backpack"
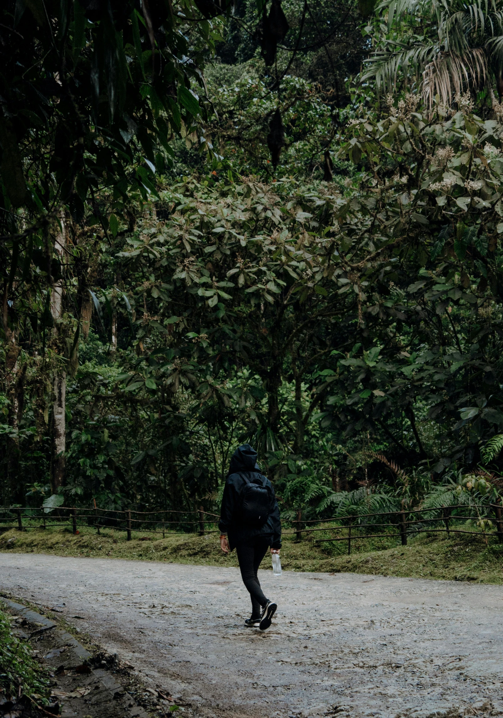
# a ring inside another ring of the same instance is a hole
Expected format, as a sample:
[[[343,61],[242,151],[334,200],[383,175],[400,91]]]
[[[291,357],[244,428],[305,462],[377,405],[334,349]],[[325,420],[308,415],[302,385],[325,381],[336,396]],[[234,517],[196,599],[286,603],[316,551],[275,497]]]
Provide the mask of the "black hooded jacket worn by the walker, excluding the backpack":
[[[249,481],[257,482],[257,479],[259,479],[264,486],[268,486],[272,491],[269,518],[264,523],[264,526],[259,526],[258,528],[244,526],[241,521],[241,490],[246,484],[244,475]],[[218,528],[220,528],[221,533],[228,534],[231,551],[236,544],[246,543],[246,541],[257,536],[264,536],[264,538],[270,536],[269,545],[271,548],[281,549],[280,508],[277,505],[271,482],[260,473],[257,465],[257,452],[249,444],[243,444],[243,446],[236,449],[234,456],[231,458],[229,474],[223,489]]]

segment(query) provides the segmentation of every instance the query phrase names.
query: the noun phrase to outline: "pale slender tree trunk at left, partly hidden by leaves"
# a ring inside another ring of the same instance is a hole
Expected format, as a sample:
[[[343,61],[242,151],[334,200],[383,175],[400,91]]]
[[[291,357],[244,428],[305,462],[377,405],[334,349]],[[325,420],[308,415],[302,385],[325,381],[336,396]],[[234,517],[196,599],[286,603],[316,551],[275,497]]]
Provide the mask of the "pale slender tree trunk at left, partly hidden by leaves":
[[[57,258],[63,261],[66,246],[65,213],[60,214],[61,230],[58,230],[54,242],[54,251]],[[63,314],[63,277],[53,281],[51,296],[51,314],[54,320],[54,332],[58,334],[57,320]],[[65,449],[66,449],[66,422],[65,422],[65,398],[66,398],[66,372],[63,368],[57,368],[54,376],[54,399],[52,403],[52,471],[51,483],[52,493],[57,493],[58,488],[65,480]]]

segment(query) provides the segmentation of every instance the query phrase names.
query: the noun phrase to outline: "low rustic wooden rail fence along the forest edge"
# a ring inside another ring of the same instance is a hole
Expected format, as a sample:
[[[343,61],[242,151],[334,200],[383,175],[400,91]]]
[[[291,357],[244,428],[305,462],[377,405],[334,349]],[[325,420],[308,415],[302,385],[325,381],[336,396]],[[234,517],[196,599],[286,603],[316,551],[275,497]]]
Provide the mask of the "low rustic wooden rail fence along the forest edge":
[[[484,514],[481,515],[481,512]],[[198,531],[217,533],[213,528],[218,522],[218,514],[209,513],[201,506],[194,511],[176,510],[106,510],[101,508],[76,508],[75,506],[60,506],[46,513],[43,508],[9,507],[0,508],[0,531],[17,528],[23,531],[26,528],[46,528],[49,526],[70,525],[74,534],[78,533],[78,526],[91,526],[100,533],[101,528],[113,528],[116,531],[126,531],[126,538],[131,541],[132,531],[148,531],[149,533],[162,533],[165,538],[167,530],[176,528],[178,531]],[[384,519],[387,518],[387,521]],[[467,521],[480,521],[487,519],[494,521],[494,528],[486,526],[475,527],[474,531],[467,531],[460,525]],[[468,533],[471,536],[480,536],[487,541],[488,538],[497,538],[503,543],[502,506],[499,503],[476,507],[473,504],[443,506],[438,509],[410,509],[402,511],[387,511],[382,513],[359,513],[348,516],[335,516],[331,518],[314,518],[302,521],[302,515],[297,513],[297,521],[291,521],[290,527],[294,531],[284,531],[285,536],[295,535],[297,541],[303,536],[313,536],[315,544],[329,544],[346,541],[348,554],[351,554],[351,541],[362,541],[369,538],[400,538],[402,546],[407,546],[407,538],[420,533],[447,533],[448,536],[457,533]],[[336,523],[336,526],[329,524]],[[315,526],[310,526],[315,524]],[[287,527],[285,527],[287,528]],[[330,533],[328,538],[316,538],[319,532]]]

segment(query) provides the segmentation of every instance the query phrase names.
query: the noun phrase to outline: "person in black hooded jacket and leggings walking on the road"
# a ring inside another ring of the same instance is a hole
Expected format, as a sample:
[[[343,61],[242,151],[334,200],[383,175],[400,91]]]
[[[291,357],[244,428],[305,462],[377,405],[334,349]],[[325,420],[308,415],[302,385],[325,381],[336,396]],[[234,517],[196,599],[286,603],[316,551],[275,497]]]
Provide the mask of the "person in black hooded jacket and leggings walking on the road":
[[[265,630],[277,604],[264,596],[257,572],[267,549],[280,553],[280,508],[271,482],[260,472],[257,452],[249,444],[236,449],[231,458],[218,528],[223,553],[236,548],[241,578],[251,597],[251,617],[244,625]]]

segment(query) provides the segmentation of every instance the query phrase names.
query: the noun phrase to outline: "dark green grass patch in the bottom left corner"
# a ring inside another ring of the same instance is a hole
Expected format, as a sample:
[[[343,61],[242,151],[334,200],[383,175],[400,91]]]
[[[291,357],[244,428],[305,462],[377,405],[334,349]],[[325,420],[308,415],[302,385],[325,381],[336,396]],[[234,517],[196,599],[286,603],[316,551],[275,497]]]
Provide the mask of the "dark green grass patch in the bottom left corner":
[[[39,706],[49,705],[49,676],[32,658],[32,647],[13,635],[10,616],[0,603],[0,688],[6,696],[27,696]]]

